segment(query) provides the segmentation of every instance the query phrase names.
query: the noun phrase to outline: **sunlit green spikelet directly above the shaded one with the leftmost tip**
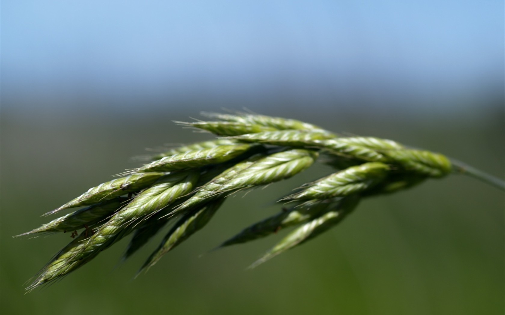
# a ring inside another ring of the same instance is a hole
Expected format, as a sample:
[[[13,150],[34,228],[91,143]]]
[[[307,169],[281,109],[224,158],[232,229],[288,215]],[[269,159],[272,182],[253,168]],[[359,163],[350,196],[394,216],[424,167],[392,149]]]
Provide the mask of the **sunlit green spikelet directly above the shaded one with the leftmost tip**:
[[[113,199],[125,195],[126,193],[140,191],[143,188],[153,184],[158,178],[163,175],[165,175],[165,173],[160,172],[131,174],[125,177],[116,178],[114,180],[104,182],[96,187],[89,188],[89,190],[81,196],[69,201],[65,205],[53,211],[46,213],[45,215],[54,214],[64,209],[93,205],[104,200]]]

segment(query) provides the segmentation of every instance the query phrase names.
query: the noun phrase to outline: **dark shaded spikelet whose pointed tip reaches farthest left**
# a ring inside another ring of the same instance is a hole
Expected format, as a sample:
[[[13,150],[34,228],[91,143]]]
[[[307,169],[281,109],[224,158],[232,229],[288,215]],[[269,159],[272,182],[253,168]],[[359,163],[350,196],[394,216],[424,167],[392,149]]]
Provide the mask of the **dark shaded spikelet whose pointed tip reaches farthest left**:
[[[79,230],[106,220],[109,216],[125,205],[127,198],[117,197],[87,208],[79,209],[58,219],[43,224],[29,232],[17,235],[30,235],[41,232],[67,232]]]

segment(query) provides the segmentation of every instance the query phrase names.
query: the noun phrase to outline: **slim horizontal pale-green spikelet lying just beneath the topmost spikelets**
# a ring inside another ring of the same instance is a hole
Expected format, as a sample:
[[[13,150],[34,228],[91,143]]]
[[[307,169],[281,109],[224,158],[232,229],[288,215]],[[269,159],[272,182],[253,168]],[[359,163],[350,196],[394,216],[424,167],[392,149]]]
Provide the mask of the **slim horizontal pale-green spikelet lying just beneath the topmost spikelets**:
[[[266,131],[257,134],[246,134],[227,139],[236,139],[242,142],[262,143],[275,146],[305,147],[314,146],[318,140],[328,139],[332,136],[318,131],[304,132],[298,130]]]

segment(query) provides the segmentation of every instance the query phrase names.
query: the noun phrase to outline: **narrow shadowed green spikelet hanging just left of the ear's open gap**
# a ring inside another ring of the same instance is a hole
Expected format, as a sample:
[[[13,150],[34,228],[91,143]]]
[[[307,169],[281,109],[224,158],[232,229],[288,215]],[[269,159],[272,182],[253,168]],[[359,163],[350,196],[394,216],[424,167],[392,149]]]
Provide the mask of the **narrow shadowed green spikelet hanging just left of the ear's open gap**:
[[[209,202],[203,208],[191,211],[175,223],[165,236],[160,246],[151,254],[145,264],[140,268],[147,270],[153,267],[163,255],[167,254],[175,246],[186,240],[189,236],[203,228],[212,219],[216,211],[221,207],[225,198],[220,198]]]

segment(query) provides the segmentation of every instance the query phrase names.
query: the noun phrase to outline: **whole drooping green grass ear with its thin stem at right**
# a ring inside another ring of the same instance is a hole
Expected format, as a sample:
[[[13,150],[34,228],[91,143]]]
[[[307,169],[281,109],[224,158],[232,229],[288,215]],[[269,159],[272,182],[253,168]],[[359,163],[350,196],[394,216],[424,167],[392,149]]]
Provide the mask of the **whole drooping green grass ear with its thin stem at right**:
[[[72,231],[74,239],[27,288],[61,279],[123,237],[133,234],[123,260],[173,218],[172,228],[140,271],[205,226],[227,196],[288,179],[320,162],[335,168],[281,199],[292,207],[252,224],[219,247],[265,237],[294,226],[251,267],[337,225],[359,201],[397,193],[429,178],[468,174],[505,190],[503,180],[440,153],[409,149],[373,137],[341,137],[314,124],[251,113],[206,113],[216,121],[178,122],[218,138],[173,148],[123,177],[90,188],[47,213],[88,206],[20,235]],[[79,234],[77,230],[82,229]],[[18,236],[20,236],[18,235]]]

